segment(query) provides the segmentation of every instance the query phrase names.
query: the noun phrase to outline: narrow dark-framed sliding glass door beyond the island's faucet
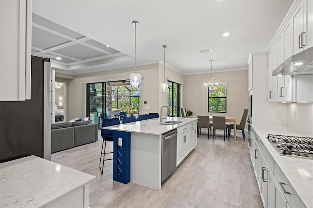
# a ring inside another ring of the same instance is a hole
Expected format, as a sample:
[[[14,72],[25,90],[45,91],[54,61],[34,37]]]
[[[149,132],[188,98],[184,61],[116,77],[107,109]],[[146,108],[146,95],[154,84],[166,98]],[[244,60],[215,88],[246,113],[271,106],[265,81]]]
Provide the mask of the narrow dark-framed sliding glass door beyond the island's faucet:
[[[179,83],[168,81],[167,106],[168,116],[179,117]]]

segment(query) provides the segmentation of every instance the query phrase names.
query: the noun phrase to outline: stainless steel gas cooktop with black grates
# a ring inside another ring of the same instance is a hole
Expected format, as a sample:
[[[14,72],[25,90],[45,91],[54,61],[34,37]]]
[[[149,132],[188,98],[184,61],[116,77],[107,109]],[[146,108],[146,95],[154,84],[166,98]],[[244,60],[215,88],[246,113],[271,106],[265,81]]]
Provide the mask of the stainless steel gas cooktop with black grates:
[[[268,134],[268,140],[280,155],[313,159],[313,138]]]

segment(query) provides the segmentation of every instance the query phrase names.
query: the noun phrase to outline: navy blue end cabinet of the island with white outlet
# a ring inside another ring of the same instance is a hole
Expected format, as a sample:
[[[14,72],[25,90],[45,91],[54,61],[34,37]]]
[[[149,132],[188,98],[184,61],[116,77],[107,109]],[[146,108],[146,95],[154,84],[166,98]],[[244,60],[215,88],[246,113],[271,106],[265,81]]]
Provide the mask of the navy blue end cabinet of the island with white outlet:
[[[131,181],[131,133],[113,130],[113,180]]]

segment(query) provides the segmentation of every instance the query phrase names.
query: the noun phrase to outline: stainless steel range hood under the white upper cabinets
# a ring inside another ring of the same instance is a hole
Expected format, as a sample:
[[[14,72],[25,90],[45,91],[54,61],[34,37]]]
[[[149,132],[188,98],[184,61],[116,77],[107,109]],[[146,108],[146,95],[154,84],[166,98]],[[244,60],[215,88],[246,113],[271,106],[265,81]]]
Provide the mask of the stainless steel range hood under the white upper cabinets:
[[[313,47],[289,57],[272,72],[272,76],[300,74],[313,74]]]

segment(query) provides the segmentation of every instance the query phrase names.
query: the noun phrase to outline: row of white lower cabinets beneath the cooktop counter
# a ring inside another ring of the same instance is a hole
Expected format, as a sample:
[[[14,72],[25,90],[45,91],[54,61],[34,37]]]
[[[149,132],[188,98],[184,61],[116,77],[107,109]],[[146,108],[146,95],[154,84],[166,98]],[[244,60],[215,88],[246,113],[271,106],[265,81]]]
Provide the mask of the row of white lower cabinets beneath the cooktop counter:
[[[266,146],[251,130],[249,154],[265,208],[304,208],[300,197],[287,180],[283,171],[270,156]]]

